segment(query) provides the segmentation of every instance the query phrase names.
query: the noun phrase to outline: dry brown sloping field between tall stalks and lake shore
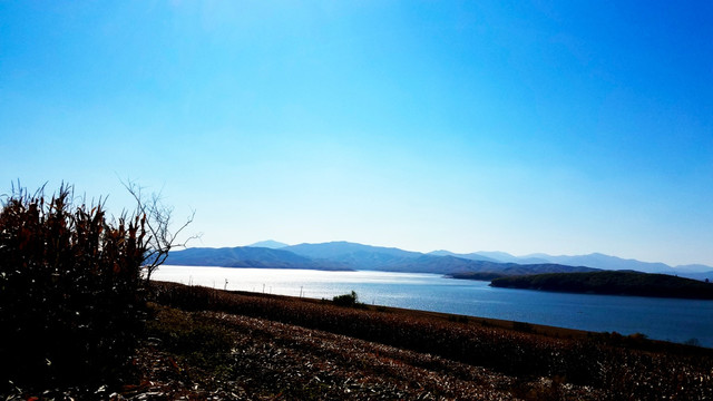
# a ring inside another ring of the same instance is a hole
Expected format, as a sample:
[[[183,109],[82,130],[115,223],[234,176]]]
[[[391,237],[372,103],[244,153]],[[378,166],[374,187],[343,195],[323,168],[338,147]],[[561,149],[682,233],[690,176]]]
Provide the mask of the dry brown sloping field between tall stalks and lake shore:
[[[115,399],[704,400],[711,350],[158,283]]]

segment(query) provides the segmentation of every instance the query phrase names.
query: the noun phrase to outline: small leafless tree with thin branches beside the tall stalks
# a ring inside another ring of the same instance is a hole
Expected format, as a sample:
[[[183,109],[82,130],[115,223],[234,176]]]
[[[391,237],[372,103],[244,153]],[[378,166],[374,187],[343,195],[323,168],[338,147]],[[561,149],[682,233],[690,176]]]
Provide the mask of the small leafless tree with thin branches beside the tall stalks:
[[[186,247],[188,242],[201,237],[201,234],[194,234],[184,241],[178,241],[180,234],[193,223],[196,212],[192,211],[185,223],[178,229],[172,231],[174,208],[163,203],[160,193],[152,193],[150,196],[147,196],[144,188],[131,180],[121,182],[121,184],[136,199],[136,215],[143,216],[146,221],[148,238],[146,239],[147,251],[144,257],[144,268],[146,270],[146,281],[149,281],[158,266],[166,262],[172,250]]]

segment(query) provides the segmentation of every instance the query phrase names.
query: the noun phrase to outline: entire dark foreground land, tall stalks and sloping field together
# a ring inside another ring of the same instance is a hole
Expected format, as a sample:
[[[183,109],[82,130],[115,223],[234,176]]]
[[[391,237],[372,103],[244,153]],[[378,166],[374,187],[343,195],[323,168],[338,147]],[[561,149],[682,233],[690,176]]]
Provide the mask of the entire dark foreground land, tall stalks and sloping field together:
[[[0,213],[0,399],[702,400],[713,351],[642,336],[147,282],[140,214]]]

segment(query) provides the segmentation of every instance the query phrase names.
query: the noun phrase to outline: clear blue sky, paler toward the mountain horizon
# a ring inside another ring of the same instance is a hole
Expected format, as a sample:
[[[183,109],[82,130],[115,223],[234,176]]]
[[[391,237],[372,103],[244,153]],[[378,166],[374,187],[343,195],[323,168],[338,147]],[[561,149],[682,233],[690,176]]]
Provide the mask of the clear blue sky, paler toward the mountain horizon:
[[[713,265],[712,1],[0,0],[0,193],[194,246]]]

